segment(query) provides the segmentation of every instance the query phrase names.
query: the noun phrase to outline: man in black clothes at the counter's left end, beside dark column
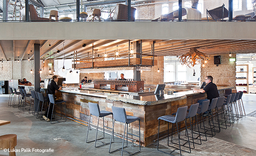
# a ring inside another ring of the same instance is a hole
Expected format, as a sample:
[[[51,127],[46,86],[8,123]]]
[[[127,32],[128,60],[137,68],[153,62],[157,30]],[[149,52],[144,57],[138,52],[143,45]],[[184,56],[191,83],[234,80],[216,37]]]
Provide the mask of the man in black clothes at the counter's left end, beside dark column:
[[[57,85],[59,78],[57,75],[52,76],[52,80],[48,83],[47,86],[47,99],[49,101],[49,96],[48,94],[53,94],[55,96],[55,93],[57,93],[57,91],[59,89],[62,89],[62,87],[59,87]],[[55,96],[56,97],[56,96]],[[58,102],[60,100],[56,100],[56,102]],[[53,109],[53,103],[49,104],[49,107],[47,108],[47,110],[45,111],[45,114],[43,115],[43,118],[45,119],[45,121],[50,121],[50,119],[52,118],[52,109]],[[49,112],[49,113],[48,113]]]

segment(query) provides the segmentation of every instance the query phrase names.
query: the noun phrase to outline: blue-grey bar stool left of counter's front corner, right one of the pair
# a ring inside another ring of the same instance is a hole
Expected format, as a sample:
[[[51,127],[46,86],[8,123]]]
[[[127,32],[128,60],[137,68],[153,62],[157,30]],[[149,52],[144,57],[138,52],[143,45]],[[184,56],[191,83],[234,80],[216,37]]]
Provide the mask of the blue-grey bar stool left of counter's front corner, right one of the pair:
[[[137,120],[139,120],[139,145],[140,145],[140,118],[139,117],[134,117],[134,116],[130,116],[130,115],[126,115],[126,110],[125,108],[120,108],[120,107],[115,107],[115,106],[112,106],[112,111],[113,111],[113,116],[114,116],[114,122],[113,122],[113,129],[112,129],[112,134],[111,134],[111,140],[110,140],[110,145],[109,145],[109,153],[113,153],[115,151],[118,151],[118,150],[121,150],[122,149],[122,154],[121,156],[123,156],[123,150],[124,148],[128,147],[128,124],[132,123],[132,122],[135,122]],[[124,123],[124,131],[123,131],[123,144],[122,144],[122,148],[119,148],[119,149],[116,149],[114,151],[110,151],[111,149],[111,143],[112,143],[112,137],[114,137],[114,125],[115,125],[115,121],[118,121],[118,122],[123,122]],[[126,133],[126,146],[123,147],[124,145],[124,138],[125,138],[125,132],[126,132],[126,126],[127,126],[127,133]],[[141,148],[140,148],[141,149]],[[133,154],[136,154],[139,151],[131,154],[130,152],[128,151],[125,151],[127,152],[130,156],[133,155]]]

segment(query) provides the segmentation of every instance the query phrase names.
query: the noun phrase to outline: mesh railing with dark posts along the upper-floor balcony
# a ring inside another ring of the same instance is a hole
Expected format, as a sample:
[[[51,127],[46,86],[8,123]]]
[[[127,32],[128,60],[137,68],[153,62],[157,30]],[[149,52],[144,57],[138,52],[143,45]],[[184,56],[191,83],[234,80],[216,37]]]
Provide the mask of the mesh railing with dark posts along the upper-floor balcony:
[[[0,0],[0,21],[255,21],[255,0]]]

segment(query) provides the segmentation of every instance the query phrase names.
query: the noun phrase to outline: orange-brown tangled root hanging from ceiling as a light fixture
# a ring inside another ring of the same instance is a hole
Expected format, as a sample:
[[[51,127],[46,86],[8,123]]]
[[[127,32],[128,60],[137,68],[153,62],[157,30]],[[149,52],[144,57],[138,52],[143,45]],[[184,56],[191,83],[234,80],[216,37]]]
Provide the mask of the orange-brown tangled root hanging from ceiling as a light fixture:
[[[188,67],[190,66],[194,67],[195,64],[200,64],[201,60],[204,61],[204,60],[210,59],[210,57],[198,51],[197,48],[190,48],[190,51],[188,53],[181,55],[179,58],[180,58],[180,63],[182,65],[186,64]]]

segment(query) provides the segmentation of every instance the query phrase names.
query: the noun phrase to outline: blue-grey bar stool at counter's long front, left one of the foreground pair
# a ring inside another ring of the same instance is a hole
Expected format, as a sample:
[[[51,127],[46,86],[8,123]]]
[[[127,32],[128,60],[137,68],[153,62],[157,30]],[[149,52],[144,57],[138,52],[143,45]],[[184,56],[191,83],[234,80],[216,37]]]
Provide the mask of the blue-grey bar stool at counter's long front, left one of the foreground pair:
[[[89,109],[90,109],[90,117],[89,117],[89,123],[88,123],[88,129],[87,129],[86,141],[85,142],[86,143],[90,143],[90,142],[94,142],[95,141],[95,146],[94,147],[101,147],[103,145],[109,144],[110,142],[109,143],[104,143],[104,142],[102,142],[100,140],[105,138],[104,117],[107,116],[107,115],[112,115],[112,119],[113,119],[113,113],[109,112],[109,111],[106,111],[106,110],[100,110],[100,107],[99,107],[99,105],[97,103],[88,102],[88,106],[89,106]],[[88,140],[88,133],[89,133],[91,115],[94,115],[94,116],[98,117],[98,123],[97,123],[97,128],[96,128],[96,137],[95,137],[95,140],[87,141]],[[97,138],[100,117],[103,118],[103,138]],[[102,142],[103,145],[96,146],[97,141]]]

